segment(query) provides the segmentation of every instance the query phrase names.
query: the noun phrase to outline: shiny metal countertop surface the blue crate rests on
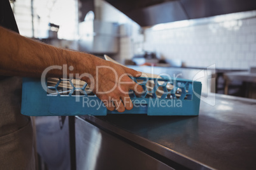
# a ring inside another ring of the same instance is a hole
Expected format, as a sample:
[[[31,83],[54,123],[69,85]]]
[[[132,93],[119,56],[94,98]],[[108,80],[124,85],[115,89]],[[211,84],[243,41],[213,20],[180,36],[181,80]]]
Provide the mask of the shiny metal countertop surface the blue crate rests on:
[[[199,116],[82,117],[192,169],[255,169],[256,100],[210,94],[206,101],[215,105],[201,101]]]

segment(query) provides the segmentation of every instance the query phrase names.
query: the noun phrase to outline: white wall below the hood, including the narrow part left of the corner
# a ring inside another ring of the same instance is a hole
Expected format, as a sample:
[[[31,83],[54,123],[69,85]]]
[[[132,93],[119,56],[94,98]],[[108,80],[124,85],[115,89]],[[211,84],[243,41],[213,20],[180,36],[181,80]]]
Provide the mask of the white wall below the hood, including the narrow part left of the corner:
[[[218,69],[256,67],[256,11],[220,16],[218,19],[228,20],[218,23],[163,30],[145,29],[143,36],[139,34],[136,23],[110,4],[102,2],[102,19],[123,20],[132,32],[120,39],[118,56],[121,61],[131,59],[134,53],[144,49],[155,51],[167,59],[181,59],[188,67],[208,67],[214,63]],[[233,17],[245,14],[253,14],[254,18]]]

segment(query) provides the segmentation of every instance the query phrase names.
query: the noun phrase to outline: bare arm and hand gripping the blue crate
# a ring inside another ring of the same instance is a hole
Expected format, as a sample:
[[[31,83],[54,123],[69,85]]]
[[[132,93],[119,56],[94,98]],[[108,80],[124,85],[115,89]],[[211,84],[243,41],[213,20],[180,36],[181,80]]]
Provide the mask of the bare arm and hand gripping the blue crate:
[[[115,105],[118,106],[116,108],[118,112],[124,112],[125,108],[132,108],[129,95],[124,92],[130,89],[143,91],[141,86],[136,86],[136,83],[127,75],[139,76],[141,75],[140,72],[87,53],[55,48],[33,41],[3,27],[0,27],[0,60],[1,75],[23,77],[40,77],[42,72],[52,65],[67,65],[68,68],[72,66],[74,69],[68,69],[68,75],[85,73],[92,75],[93,82],[89,77],[83,77],[82,79],[88,82],[90,86],[94,86],[93,91],[101,100],[108,100],[107,103],[104,103],[109,110],[115,109],[115,106],[112,105],[112,101],[114,101]],[[97,72],[97,66],[102,66],[99,72]],[[115,72],[108,68],[112,68]],[[54,69],[48,72],[48,76],[63,77],[64,75],[62,75],[62,70]],[[127,83],[121,83],[118,80]],[[108,93],[98,93],[97,84],[99,91],[108,91]]]

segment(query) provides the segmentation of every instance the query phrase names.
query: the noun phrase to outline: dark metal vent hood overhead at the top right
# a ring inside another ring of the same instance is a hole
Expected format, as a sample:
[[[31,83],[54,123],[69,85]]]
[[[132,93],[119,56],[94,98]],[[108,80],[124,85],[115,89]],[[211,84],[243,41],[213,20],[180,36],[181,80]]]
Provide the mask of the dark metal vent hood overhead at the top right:
[[[256,10],[255,0],[105,0],[141,27]]]

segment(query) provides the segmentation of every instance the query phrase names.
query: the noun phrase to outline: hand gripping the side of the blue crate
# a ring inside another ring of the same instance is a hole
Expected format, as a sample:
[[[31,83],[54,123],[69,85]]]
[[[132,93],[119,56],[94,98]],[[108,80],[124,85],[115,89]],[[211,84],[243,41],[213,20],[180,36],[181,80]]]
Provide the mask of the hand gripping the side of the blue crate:
[[[96,69],[92,71],[94,81],[89,81],[89,86],[96,96],[101,99],[108,110],[124,112],[125,108],[133,108],[129,90],[139,94],[143,88],[129,77],[139,77],[138,72],[122,65],[115,64],[100,58],[96,60]]]

